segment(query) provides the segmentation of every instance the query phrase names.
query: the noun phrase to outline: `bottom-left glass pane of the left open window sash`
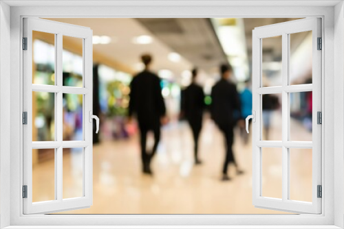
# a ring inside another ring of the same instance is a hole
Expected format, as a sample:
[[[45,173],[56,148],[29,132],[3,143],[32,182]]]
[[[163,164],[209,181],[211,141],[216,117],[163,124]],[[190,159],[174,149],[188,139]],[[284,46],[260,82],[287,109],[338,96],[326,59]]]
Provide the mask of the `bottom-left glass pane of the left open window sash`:
[[[55,199],[55,149],[32,149],[32,202]]]

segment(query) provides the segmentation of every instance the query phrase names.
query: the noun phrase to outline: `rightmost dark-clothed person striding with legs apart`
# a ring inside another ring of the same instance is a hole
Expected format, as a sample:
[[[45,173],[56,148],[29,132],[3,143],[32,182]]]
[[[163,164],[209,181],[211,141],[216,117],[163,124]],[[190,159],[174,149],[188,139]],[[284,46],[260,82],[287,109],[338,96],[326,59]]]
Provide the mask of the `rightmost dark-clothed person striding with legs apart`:
[[[219,130],[222,131],[226,138],[226,158],[222,170],[222,180],[230,180],[227,170],[228,165],[233,163],[237,169],[237,174],[243,173],[235,161],[233,155],[233,128],[235,127],[235,119],[233,112],[239,111],[241,117],[240,99],[235,84],[228,82],[232,75],[232,67],[229,64],[222,64],[220,67],[222,78],[217,82],[211,90],[211,118],[215,121]],[[240,125],[244,125],[244,120],[239,120]]]

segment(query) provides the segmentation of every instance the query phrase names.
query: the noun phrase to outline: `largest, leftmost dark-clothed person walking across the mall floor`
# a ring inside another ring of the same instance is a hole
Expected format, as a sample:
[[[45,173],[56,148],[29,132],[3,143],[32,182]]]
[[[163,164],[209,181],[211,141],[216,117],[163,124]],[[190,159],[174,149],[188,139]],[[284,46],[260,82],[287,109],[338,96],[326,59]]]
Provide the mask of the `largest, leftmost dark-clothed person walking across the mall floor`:
[[[140,146],[143,173],[152,175],[151,159],[153,158],[160,141],[160,126],[166,123],[166,108],[161,93],[160,79],[158,75],[149,71],[151,56],[141,56],[144,63],[144,71],[133,77],[130,84],[129,122],[133,114],[138,119],[140,129]],[[147,133],[154,134],[154,145],[151,152],[147,152]]]

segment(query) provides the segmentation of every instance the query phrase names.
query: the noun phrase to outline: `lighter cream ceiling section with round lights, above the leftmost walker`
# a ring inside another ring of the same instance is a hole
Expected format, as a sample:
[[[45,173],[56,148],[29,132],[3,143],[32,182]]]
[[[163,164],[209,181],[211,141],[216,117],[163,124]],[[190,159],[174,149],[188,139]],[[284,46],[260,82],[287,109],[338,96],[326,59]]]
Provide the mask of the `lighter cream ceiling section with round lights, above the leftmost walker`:
[[[107,45],[94,45],[94,53],[101,53],[106,58],[120,62],[133,69],[140,71],[140,56],[142,53],[151,53],[153,56],[152,68],[154,71],[168,69],[175,76],[193,66],[189,60],[182,58],[179,62],[169,60],[169,53],[173,49],[155,38],[148,29],[143,27],[136,19],[49,19],[82,25],[93,29],[93,34],[111,37],[111,43]],[[149,35],[153,37],[151,44],[139,45],[132,42],[136,36]]]

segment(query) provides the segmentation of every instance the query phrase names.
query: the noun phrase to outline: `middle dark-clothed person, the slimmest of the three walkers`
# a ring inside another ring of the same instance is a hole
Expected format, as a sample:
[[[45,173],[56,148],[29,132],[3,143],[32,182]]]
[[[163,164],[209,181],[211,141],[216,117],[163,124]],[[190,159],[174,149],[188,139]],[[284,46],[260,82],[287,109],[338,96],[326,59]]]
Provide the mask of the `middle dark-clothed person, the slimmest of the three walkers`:
[[[195,83],[197,69],[192,71],[192,82],[182,93],[182,115],[186,117],[193,132],[195,165],[202,164],[198,158],[198,138],[202,129],[204,110],[204,92],[201,86]]]

